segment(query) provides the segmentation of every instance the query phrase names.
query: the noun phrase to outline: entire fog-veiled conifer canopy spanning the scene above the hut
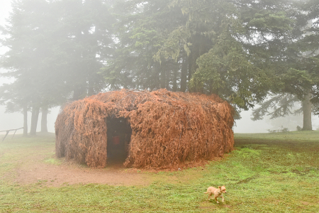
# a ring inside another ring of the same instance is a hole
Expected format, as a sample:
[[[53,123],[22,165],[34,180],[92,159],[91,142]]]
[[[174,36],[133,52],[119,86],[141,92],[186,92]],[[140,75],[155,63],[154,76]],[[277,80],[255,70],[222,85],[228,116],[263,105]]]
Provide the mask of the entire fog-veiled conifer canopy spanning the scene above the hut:
[[[318,13],[318,0],[16,0],[1,104],[38,119],[121,88],[218,94],[238,111],[269,92],[315,104]]]

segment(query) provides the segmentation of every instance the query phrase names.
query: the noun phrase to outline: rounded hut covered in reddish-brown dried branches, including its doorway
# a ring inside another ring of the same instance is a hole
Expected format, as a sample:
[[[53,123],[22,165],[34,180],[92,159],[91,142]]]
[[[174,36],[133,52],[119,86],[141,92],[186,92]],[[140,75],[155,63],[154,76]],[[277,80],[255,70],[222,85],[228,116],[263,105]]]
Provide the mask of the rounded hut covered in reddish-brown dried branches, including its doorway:
[[[233,109],[216,95],[121,90],[67,104],[55,122],[58,158],[94,168],[171,168],[233,149]]]

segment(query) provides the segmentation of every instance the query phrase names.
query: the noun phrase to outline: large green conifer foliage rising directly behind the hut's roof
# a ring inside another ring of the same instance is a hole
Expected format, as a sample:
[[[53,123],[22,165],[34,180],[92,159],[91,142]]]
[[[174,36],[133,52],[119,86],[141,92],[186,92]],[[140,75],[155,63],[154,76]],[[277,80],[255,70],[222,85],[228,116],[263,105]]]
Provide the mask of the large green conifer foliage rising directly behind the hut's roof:
[[[187,82],[188,91],[253,107],[274,87],[276,58],[291,38],[296,16],[287,8],[287,1],[125,1],[115,7],[118,45],[106,82],[183,92]]]

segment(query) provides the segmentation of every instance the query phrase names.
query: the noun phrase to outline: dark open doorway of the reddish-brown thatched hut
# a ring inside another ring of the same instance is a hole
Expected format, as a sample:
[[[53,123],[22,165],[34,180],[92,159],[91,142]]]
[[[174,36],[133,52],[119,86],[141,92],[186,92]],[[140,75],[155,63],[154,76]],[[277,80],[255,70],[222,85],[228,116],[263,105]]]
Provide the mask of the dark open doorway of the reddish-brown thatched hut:
[[[128,157],[130,136],[132,135],[130,123],[122,117],[108,117],[106,118],[106,128],[108,135],[107,164],[123,164]]]

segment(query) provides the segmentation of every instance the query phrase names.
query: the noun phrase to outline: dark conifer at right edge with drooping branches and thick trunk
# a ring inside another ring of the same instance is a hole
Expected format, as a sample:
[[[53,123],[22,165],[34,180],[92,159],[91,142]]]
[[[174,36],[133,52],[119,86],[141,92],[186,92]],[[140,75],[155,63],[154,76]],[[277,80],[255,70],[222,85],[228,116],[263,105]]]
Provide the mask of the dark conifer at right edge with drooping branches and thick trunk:
[[[290,43],[275,63],[279,69],[272,78],[276,83],[270,88],[274,95],[254,109],[253,119],[262,119],[267,114],[276,118],[301,113],[302,129],[309,131],[311,114],[318,109],[318,1],[295,1],[291,6],[295,23]],[[301,109],[291,111],[294,102],[300,102]]]

